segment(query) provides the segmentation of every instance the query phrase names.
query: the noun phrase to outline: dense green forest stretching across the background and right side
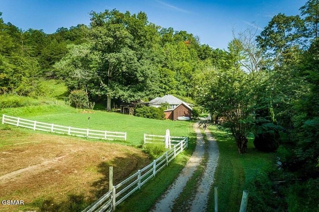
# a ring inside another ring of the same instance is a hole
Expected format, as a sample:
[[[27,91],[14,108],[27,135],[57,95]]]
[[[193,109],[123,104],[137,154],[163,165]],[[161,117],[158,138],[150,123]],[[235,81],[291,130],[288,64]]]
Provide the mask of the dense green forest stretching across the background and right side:
[[[90,18],[89,25],[53,34],[24,31],[0,18],[2,98],[38,98],[40,82],[49,79],[85,97],[87,108],[101,103],[111,110],[175,95],[228,129],[240,154],[248,154],[250,136],[258,150],[278,153],[280,168],[256,181],[257,188],[270,182],[271,191],[261,190],[260,197],[272,191],[280,197],[267,198],[265,211],[319,208],[318,0],[307,1],[300,14],[275,15],[260,34],[234,32],[227,50],[161,28],[144,12],[92,11]],[[278,179],[286,184],[275,185]]]

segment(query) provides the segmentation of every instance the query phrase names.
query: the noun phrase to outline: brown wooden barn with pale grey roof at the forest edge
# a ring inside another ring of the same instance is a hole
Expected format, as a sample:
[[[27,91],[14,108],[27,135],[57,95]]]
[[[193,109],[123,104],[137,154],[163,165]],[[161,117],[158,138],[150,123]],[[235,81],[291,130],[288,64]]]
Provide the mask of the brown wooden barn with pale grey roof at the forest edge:
[[[177,120],[177,117],[189,117],[191,119],[192,108],[185,102],[179,100],[172,95],[157,97],[149,102],[149,106],[159,107],[161,104],[167,103],[169,106],[164,110],[166,119]]]

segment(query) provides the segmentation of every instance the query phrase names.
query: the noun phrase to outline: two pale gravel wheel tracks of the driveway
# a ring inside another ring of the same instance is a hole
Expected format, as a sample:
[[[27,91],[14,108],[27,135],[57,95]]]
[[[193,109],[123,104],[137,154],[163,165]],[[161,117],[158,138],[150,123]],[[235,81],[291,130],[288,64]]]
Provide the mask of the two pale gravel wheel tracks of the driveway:
[[[185,167],[182,169],[181,173],[174,181],[174,183],[156,203],[153,212],[172,211],[171,209],[173,207],[174,200],[178,198],[180,193],[183,191],[183,188],[186,186],[187,181],[191,178],[197,166],[203,159],[203,155],[205,152],[203,136],[200,133],[198,123],[195,123],[193,127],[197,137],[195,151],[193,152],[191,158],[186,163]],[[214,173],[218,163],[219,151],[217,143],[207,129],[205,133],[208,140],[208,161],[203,176],[198,182],[197,188],[193,189],[196,194],[190,200],[191,212],[206,211],[209,188],[214,182]]]

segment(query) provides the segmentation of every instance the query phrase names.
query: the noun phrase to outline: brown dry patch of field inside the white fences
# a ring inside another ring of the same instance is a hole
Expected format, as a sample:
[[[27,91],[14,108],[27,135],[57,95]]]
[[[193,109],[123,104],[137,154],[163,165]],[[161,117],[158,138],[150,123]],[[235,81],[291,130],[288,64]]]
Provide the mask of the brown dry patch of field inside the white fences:
[[[0,147],[0,200],[23,200],[24,206],[0,211],[55,211],[88,205],[109,187],[149,164],[139,149],[73,137],[15,131],[14,142]],[[0,140],[12,140],[11,130],[0,130]],[[77,207],[77,206],[76,206]],[[64,210],[62,210],[64,211]]]

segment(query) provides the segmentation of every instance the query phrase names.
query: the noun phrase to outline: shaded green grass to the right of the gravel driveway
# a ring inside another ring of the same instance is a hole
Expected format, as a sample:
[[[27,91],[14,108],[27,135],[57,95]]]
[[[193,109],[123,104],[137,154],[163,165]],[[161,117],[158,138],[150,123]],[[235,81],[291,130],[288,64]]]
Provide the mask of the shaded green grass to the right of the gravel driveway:
[[[218,210],[238,212],[243,190],[258,173],[271,169],[275,153],[263,153],[255,149],[249,139],[247,153],[239,154],[231,134],[210,126],[219,148],[219,160],[215,172],[215,182],[210,189],[208,211],[214,211],[214,187],[218,187]],[[249,199],[248,199],[249,201]]]

